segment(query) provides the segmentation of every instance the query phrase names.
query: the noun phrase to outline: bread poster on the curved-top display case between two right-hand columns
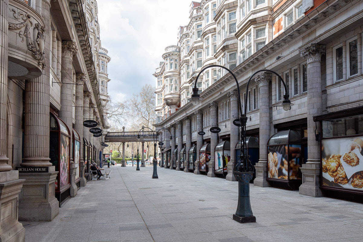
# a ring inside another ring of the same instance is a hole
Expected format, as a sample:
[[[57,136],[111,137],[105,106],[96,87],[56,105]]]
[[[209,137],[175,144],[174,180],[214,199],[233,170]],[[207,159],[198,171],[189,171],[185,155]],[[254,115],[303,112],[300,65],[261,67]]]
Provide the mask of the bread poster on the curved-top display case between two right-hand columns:
[[[274,145],[268,147],[268,177],[275,179],[301,179],[301,145]]]

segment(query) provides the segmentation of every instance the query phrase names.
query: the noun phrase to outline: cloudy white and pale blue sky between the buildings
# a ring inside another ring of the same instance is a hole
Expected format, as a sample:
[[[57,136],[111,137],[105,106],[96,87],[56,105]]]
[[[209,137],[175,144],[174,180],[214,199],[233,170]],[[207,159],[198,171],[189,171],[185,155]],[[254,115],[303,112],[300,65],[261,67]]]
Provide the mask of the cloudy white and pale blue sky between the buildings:
[[[178,44],[187,25],[191,0],[98,0],[98,22],[108,64],[109,95],[122,102],[138,94],[163,61],[166,46]]]

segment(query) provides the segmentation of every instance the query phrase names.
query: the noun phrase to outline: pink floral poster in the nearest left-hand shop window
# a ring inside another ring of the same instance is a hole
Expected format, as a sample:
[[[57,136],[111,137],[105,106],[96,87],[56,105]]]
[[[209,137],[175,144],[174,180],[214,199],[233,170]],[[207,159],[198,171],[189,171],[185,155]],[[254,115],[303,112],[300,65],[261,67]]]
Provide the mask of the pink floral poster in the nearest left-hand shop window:
[[[60,188],[69,184],[69,137],[61,135]]]

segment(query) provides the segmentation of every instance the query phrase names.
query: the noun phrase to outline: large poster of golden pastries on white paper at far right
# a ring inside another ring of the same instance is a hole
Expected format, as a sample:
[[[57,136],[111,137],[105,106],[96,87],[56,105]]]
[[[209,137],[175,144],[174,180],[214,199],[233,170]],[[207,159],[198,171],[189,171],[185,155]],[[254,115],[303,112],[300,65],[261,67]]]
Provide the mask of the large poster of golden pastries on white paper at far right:
[[[363,137],[322,140],[324,186],[363,190]]]

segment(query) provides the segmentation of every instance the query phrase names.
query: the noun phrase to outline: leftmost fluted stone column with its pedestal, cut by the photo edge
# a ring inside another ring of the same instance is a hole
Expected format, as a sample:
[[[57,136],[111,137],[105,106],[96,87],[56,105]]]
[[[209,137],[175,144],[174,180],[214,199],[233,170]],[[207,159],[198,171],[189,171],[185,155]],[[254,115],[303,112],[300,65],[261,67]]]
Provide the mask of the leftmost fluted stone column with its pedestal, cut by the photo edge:
[[[8,0],[0,1],[0,241],[24,242],[25,229],[18,221],[19,193],[25,180],[13,171],[6,156],[8,97]],[[4,216],[4,218],[3,218]]]

